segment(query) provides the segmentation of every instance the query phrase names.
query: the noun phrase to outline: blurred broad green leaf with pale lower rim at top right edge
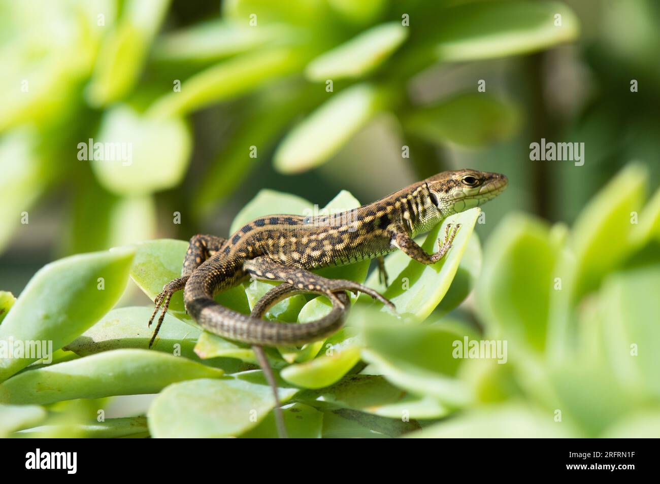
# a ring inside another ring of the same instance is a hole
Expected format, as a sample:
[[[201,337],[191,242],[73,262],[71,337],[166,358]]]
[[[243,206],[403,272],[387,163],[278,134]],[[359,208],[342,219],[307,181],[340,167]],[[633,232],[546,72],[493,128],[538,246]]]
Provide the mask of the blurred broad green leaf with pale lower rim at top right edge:
[[[479,1],[443,11],[432,42],[441,61],[475,61],[539,51],[578,33],[578,18],[563,3]]]

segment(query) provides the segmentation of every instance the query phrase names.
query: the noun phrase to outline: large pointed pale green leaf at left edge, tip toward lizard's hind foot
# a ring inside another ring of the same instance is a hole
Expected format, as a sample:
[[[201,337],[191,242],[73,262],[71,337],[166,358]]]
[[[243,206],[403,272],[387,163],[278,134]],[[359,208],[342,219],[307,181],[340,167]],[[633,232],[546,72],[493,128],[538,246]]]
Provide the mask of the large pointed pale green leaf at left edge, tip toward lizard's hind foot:
[[[40,269],[0,325],[0,343],[48,342],[52,347],[35,357],[1,358],[0,381],[69,344],[108,312],[126,287],[134,254],[121,249],[76,255]]]

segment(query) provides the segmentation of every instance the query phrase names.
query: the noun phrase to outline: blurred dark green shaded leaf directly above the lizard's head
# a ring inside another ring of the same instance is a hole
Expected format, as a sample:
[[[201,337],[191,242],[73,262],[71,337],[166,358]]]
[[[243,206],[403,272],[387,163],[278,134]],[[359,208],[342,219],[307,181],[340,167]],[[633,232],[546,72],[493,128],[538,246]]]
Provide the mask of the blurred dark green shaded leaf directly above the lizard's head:
[[[431,143],[484,146],[513,136],[519,117],[507,102],[484,93],[465,93],[417,109],[403,123],[406,131]]]

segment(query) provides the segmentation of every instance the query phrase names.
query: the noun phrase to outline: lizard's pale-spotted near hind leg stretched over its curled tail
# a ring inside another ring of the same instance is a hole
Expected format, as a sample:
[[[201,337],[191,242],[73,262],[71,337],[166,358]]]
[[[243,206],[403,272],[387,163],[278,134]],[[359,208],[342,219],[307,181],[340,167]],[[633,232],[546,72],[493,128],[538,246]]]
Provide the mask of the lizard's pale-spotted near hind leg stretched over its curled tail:
[[[395,311],[394,305],[377,291],[354,281],[327,279],[309,270],[282,266],[269,257],[257,257],[247,260],[243,267],[246,272],[257,279],[288,282],[291,286],[302,291],[320,291],[331,301],[337,299],[335,293],[339,291],[363,292]]]

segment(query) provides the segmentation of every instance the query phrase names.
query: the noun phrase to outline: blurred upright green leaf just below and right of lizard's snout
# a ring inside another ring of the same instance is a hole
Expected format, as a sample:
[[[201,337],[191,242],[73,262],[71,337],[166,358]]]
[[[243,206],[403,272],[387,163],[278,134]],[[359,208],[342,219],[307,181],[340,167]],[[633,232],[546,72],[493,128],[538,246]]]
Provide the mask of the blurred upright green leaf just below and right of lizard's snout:
[[[519,350],[545,349],[558,252],[550,228],[529,216],[510,215],[496,228],[477,289],[477,308],[490,335],[506,336]]]

